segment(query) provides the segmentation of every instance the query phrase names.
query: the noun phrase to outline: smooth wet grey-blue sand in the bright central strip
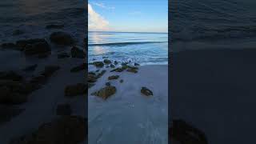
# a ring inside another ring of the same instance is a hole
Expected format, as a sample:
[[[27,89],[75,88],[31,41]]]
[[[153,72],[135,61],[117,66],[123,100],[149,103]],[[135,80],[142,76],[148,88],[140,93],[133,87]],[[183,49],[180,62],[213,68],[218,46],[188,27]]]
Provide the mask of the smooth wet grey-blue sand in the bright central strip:
[[[138,66],[137,74],[106,70],[88,91],[89,143],[168,143],[168,66]],[[119,78],[108,80],[110,75]],[[106,82],[116,87],[114,95],[91,95]],[[154,95],[143,95],[142,86]]]

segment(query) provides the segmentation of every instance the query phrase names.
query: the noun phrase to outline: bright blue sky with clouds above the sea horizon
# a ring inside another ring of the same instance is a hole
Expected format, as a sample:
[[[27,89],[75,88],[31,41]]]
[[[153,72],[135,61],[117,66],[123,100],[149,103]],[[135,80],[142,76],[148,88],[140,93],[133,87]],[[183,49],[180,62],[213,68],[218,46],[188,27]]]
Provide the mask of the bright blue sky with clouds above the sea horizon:
[[[88,29],[168,32],[168,0],[89,0]]]

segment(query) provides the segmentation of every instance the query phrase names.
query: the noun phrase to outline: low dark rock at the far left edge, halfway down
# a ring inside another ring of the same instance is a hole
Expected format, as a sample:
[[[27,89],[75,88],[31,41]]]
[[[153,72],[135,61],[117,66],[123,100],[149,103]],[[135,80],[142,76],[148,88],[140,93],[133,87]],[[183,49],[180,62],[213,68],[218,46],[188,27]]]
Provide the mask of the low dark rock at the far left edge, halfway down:
[[[15,73],[14,71],[0,71],[1,80],[12,80],[12,81],[22,81],[23,77],[20,74]]]

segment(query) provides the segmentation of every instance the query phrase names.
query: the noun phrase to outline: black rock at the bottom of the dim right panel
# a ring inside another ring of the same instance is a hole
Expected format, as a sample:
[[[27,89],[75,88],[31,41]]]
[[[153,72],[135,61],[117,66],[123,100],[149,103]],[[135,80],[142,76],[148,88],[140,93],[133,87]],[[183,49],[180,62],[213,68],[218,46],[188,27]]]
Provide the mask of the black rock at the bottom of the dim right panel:
[[[208,144],[206,134],[181,119],[173,120],[170,137],[186,144]]]

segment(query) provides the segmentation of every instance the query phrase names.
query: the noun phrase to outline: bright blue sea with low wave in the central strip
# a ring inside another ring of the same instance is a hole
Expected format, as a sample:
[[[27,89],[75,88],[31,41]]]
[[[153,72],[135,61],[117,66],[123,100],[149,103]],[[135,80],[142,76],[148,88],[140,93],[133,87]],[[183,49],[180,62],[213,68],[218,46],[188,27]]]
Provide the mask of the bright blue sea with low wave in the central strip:
[[[168,34],[89,32],[89,62],[110,58],[142,65],[167,64]]]

